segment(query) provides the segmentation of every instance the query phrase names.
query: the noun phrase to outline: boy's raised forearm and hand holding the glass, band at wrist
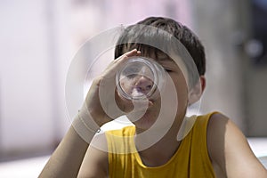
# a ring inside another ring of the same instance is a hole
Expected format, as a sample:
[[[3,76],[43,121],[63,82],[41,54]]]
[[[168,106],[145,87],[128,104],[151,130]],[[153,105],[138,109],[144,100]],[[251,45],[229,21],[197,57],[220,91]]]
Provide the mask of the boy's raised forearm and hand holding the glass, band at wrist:
[[[110,100],[109,97],[114,97],[112,87],[115,86],[117,69],[123,65],[128,57],[136,55],[140,55],[137,50],[125,53],[117,60],[112,61],[100,77],[94,79],[82,109],[39,177],[77,177],[85,152],[96,131],[112,118],[123,114],[116,108],[117,105],[115,106],[114,100]],[[101,90],[105,93],[105,97],[101,97]],[[125,106],[128,106],[129,109],[133,107],[130,101],[124,101],[119,97],[116,97],[116,102],[119,108],[124,108],[124,111],[127,110]]]

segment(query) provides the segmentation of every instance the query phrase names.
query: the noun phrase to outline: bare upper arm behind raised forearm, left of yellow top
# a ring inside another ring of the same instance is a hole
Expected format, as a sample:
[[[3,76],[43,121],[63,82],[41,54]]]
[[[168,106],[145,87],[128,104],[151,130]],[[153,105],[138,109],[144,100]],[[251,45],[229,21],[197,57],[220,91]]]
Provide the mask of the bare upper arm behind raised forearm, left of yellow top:
[[[85,153],[78,177],[108,177],[109,154],[105,134],[96,135]]]

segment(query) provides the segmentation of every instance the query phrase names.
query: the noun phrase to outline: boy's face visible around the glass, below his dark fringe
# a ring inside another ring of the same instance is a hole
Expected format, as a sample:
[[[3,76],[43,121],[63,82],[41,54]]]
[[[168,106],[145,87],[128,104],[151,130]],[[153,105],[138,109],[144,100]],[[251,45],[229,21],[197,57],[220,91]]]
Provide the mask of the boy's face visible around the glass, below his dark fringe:
[[[188,88],[185,77],[176,62],[167,55],[158,53],[145,57],[157,61],[166,70],[166,85],[164,90],[160,92],[160,97],[150,101],[152,104],[142,118],[134,121],[134,125],[142,130],[147,130],[157,119],[160,119],[160,126],[172,125],[174,119],[183,118],[187,109]],[[131,116],[128,117],[131,120]]]

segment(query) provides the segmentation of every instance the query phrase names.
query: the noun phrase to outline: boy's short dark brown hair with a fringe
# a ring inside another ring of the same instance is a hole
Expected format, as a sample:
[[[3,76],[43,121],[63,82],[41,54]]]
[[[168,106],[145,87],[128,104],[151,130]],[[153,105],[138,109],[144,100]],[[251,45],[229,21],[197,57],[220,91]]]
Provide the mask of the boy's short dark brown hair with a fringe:
[[[151,28],[147,27],[156,28],[156,30],[151,30]],[[190,28],[169,18],[149,17],[139,21],[135,25],[125,28],[117,40],[115,59],[134,48],[141,50],[142,53],[155,52],[155,46],[149,45],[151,43],[160,44],[161,49],[169,47],[175,48],[175,46],[173,46],[174,44],[172,44],[173,38],[178,39],[188,53],[190,53],[198,69],[198,75],[204,75],[206,72],[205,49],[198,39],[198,36],[196,36]],[[139,41],[143,40],[146,40],[145,43],[139,43]],[[158,49],[156,49],[156,51],[158,51]]]

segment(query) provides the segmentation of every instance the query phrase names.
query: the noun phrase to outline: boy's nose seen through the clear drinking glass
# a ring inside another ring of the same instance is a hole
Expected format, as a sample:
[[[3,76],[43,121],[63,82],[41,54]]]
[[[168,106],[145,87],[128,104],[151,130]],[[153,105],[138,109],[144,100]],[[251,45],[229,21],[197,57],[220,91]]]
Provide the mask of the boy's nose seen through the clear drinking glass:
[[[150,92],[153,86],[153,81],[148,77],[141,76],[137,79],[134,88],[139,93],[147,94]]]

